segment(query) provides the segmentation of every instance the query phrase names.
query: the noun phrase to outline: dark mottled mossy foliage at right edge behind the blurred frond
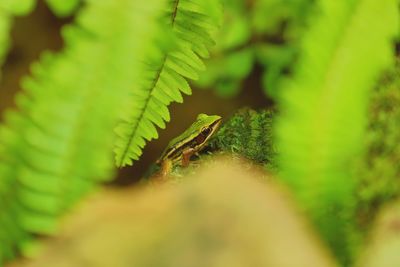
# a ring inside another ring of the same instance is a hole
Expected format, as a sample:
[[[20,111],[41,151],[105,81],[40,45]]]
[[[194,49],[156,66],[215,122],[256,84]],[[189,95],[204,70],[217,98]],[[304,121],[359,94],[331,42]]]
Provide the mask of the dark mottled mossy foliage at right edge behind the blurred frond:
[[[366,153],[360,163],[357,215],[366,228],[390,200],[400,196],[400,63],[388,72],[372,94],[366,133]]]

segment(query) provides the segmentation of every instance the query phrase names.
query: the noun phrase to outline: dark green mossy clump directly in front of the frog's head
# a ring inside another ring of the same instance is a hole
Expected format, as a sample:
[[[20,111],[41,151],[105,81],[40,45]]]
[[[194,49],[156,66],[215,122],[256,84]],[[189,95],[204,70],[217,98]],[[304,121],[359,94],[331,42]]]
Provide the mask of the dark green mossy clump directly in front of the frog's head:
[[[273,116],[272,110],[239,110],[210,140],[210,149],[239,154],[264,164],[268,169],[274,169],[276,149],[272,137]]]

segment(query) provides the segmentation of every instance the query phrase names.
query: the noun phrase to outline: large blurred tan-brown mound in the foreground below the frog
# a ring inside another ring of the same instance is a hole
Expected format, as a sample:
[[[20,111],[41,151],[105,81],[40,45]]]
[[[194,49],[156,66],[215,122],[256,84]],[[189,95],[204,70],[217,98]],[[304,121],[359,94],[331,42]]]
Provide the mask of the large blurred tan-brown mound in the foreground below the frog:
[[[240,160],[179,183],[106,190],[63,221],[26,267],[336,266],[293,203]]]

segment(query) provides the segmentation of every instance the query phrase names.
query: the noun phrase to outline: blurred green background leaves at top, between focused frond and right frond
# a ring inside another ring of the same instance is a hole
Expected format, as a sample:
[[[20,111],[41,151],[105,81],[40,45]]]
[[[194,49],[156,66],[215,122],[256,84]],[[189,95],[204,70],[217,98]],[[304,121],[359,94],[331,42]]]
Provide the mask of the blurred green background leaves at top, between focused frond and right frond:
[[[220,96],[235,96],[254,65],[262,67],[268,94],[293,62],[315,0],[225,0],[225,17],[208,69],[197,84]],[[240,61],[240,64],[237,62]]]

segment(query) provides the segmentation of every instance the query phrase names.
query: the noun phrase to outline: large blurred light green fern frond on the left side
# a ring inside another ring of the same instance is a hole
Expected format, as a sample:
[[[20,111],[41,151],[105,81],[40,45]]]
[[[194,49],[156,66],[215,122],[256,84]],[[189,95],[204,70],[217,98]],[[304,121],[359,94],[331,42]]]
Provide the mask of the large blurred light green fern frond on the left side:
[[[111,178],[110,131],[158,34],[163,0],[91,0],[23,83],[0,128],[0,265]],[[141,27],[145,23],[146,27]],[[121,34],[121,33],[130,34]]]

